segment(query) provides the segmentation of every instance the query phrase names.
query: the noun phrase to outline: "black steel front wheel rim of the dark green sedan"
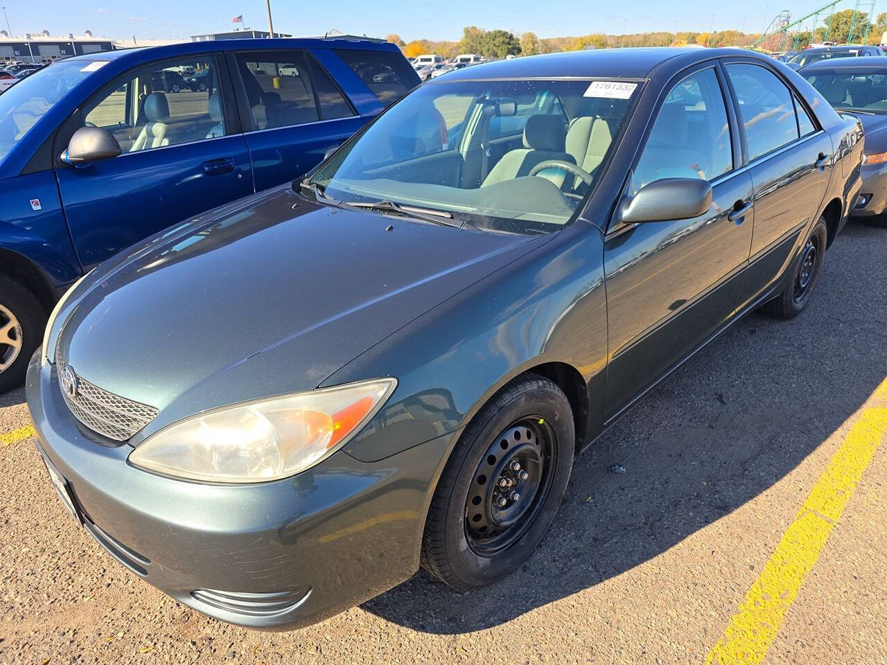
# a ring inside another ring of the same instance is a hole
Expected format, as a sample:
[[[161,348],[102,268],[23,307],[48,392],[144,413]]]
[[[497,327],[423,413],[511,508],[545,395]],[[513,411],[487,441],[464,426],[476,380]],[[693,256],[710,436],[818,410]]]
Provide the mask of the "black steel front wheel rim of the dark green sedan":
[[[556,450],[554,430],[539,416],[515,422],[490,444],[465,504],[466,537],[475,553],[501,552],[530,528],[551,487]]]

